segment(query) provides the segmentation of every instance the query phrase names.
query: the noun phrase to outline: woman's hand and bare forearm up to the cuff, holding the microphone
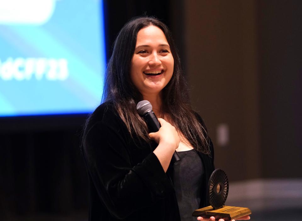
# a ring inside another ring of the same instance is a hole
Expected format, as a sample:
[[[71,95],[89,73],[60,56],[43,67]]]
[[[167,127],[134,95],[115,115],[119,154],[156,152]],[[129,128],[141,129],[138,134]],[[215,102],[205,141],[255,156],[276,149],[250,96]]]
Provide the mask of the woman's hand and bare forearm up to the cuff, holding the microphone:
[[[162,118],[158,118],[158,121],[161,125],[159,131],[150,133],[149,136],[158,143],[153,153],[157,156],[161,166],[166,172],[172,155],[179,145],[180,139],[175,127]]]

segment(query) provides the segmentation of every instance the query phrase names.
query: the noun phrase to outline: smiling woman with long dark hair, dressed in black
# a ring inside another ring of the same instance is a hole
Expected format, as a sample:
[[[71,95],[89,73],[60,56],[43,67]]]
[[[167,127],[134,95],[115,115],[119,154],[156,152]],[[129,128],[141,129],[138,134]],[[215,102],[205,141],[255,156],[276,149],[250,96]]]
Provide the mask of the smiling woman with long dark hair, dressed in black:
[[[83,134],[89,220],[196,221],[193,211],[209,205],[214,150],[191,108],[165,24],[148,17],[125,24],[114,43],[104,92]],[[137,113],[141,100],[160,117],[156,133],[148,134]],[[182,159],[171,163],[175,150]]]

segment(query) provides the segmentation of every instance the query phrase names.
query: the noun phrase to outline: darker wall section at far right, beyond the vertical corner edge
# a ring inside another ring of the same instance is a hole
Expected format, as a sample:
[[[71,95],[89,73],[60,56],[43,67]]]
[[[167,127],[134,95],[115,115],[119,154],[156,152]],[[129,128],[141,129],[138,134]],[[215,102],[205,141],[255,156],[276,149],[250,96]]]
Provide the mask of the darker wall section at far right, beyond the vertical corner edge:
[[[302,2],[259,1],[264,177],[302,177]]]

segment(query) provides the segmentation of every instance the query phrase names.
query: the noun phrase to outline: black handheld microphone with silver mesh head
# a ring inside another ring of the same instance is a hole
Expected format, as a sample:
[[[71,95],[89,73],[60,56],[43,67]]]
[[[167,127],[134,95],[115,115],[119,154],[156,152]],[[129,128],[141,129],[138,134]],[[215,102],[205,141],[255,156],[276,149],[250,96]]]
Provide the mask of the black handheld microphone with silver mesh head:
[[[138,114],[145,119],[150,133],[159,131],[160,124],[155,113],[152,110],[152,105],[149,101],[144,100],[138,102],[136,109]],[[178,153],[175,151],[172,156],[172,163],[178,160],[180,160],[180,158]]]

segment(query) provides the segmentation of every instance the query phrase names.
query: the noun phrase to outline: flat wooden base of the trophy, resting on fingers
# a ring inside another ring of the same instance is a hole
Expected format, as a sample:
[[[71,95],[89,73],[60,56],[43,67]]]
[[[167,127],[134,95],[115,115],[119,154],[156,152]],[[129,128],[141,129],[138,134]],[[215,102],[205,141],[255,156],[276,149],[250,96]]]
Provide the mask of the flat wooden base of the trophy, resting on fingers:
[[[251,214],[251,210],[245,207],[223,206],[220,209],[213,209],[212,206],[196,209],[192,216],[201,216],[203,218],[210,218],[214,216],[215,219],[232,220],[242,216]]]

